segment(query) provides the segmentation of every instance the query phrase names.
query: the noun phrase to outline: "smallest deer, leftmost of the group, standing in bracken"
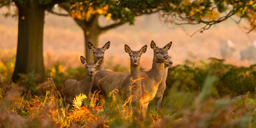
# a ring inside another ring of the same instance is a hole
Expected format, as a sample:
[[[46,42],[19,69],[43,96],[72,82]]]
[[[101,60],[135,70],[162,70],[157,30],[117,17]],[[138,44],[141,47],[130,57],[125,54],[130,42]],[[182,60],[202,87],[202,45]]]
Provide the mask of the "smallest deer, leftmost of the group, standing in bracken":
[[[75,96],[83,93],[89,97],[91,88],[93,87],[93,78],[95,75],[95,69],[99,65],[103,58],[98,59],[95,63],[87,63],[85,57],[81,56],[81,63],[86,65],[87,72],[85,78],[82,81],[77,81],[75,79],[68,79],[61,86],[61,96],[63,98],[63,107],[66,111],[69,111],[73,107],[72,101]],[[69,105],[67,109],[67,105]]]

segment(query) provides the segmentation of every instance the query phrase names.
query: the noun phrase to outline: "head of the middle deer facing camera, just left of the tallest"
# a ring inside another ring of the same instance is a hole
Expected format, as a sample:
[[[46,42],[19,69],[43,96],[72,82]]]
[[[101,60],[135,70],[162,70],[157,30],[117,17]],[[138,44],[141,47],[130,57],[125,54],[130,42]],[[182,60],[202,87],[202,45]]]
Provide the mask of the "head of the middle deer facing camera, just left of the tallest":
[[[141,55],[147,51],[147,45],[144,45],[139,51],[132,51],[128,45],[125,45],[125,52],[129,54],[131,65],[139,65]]]

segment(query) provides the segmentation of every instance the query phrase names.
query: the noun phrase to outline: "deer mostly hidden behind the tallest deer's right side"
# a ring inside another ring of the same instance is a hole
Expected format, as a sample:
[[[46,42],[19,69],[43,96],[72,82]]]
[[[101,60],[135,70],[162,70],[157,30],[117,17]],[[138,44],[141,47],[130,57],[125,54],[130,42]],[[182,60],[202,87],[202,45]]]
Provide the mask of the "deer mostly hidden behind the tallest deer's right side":
[[[168,61],[165,62],[165,69],[163,71],[163,79],[157,89],[157,94],[155,95],[155,99],[157,99],[157,111],[161,111],[161,103],[163,99],[163,94],[166,89],[166,79],[168,75],[168,69],[173,65],[173,61],[171,61],[171,57],[168,56]]]

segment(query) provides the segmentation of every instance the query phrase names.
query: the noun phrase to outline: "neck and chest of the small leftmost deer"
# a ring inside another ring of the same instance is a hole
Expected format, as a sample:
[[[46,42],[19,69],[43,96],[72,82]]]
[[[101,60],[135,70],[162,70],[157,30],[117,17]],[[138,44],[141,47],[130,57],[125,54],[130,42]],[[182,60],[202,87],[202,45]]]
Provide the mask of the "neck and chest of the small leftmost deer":
[[[82,81],[82,90],[85,92],[85,94],[88,96],[91,88],[93,87],[93,75],[85,75],[85,78]]]

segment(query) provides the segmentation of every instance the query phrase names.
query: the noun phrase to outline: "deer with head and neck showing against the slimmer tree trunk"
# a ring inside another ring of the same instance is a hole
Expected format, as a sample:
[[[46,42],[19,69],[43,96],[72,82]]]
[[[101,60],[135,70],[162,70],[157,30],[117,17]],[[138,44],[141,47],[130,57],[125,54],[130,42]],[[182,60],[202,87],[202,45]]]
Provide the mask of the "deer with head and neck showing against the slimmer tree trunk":
[[[99,59],[103,58],[99,65],[96,67],[96,71],[101,71],[104,69],[103,61],[104,61],[104,53],[110,47],[110,41],[107,41],[103,47],[95,48],[93,43],[88,42],[88,48],[93,51],[93,58],[94,61],[98,61]]]

